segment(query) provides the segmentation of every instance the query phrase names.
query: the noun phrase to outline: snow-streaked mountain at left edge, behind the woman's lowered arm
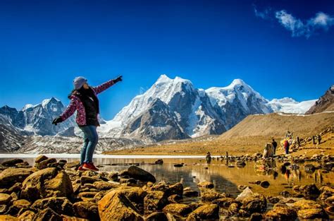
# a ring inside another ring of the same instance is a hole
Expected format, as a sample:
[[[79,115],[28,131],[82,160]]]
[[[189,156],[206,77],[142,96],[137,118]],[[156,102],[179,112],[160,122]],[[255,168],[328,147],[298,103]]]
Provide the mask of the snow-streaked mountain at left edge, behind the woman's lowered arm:
[[[64,108],[60,100],[52,97],[40,104],[26,104],[20,111],[8,106],[1,107],[0,115],[7,119],[7,124],[21,131],[42,136],[56,135],[70,126],[75,126],[73,117],[57,126],[52,124],[52,120],[58,117]]]

